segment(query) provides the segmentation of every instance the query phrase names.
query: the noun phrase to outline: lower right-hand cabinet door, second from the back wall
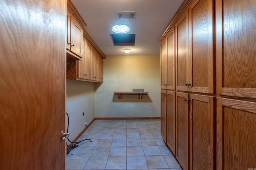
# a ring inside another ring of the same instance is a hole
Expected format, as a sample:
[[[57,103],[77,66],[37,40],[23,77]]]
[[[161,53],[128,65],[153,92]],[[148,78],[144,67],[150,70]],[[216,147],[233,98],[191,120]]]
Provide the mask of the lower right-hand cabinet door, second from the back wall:
[[[175,155],[175,120],[176,120],[176,114],[175,114],[175,92],[174,91],[166,91],[167,99],[166,99],[166,113],[167,113],[167,138],[166,138],[166,144],[172,151],[172,153]]]

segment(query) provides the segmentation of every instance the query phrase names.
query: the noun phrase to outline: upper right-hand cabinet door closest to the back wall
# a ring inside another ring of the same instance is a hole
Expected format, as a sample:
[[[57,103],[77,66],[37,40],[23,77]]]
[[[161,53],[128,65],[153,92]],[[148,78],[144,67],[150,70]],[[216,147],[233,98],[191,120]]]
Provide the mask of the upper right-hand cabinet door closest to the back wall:
[[[166,89],[167,86],[167,48],[166,38],[161,41],[161,89]]]

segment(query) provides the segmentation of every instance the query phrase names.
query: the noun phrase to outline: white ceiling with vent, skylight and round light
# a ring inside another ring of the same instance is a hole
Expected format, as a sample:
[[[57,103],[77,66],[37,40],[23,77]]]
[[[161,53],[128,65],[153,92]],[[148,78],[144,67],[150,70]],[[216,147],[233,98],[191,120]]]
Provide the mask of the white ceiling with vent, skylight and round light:
[[[87,26],[84,28],[106,55],[160,55],[158,38],[183,0],[71,0]],[[136,19],[119,19],[116,12],[136,11]],[[114,46],[111,27],[125,21],[134,46]],[[123,49],[130,48],[125,54]]]

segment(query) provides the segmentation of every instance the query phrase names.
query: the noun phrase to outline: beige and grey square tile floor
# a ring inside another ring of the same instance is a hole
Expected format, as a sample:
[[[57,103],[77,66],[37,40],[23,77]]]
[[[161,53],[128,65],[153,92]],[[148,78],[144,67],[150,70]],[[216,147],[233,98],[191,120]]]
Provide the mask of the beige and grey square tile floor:
[[[95,120],[67,155],[67,170],[182,170],[160,134],[160,119]]]

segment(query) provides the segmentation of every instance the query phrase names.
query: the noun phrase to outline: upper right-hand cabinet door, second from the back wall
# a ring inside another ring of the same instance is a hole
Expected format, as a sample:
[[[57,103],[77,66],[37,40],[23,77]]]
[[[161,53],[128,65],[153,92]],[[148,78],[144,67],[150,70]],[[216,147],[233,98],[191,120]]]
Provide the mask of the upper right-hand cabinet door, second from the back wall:
[[[175,90],[175,27],[167,35],[167,89]]]

